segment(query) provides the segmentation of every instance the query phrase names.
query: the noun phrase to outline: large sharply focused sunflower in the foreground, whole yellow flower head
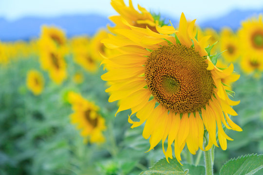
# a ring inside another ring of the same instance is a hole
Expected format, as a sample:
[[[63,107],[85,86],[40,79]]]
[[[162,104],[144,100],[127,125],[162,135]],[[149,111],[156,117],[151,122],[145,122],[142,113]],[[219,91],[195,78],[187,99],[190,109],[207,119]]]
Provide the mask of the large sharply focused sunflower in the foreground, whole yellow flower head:
[[[143,137],[150,138],[149,151],[162,140],[167,160],[172,158],[172,143],[180,162],[185,144],[192,154],[199,148],[209,150],[213,144],[218,146],[216,135],[225,150],[226,140],[232,139],[222,123],[227,129],[242,131],[228,116],[237,115],[231,105],[239,102],[228,98],[222,84],[239,78],[232,74],[233,65],[224,70],[214,66],[214,57],[209,57],[211,48],[205,48],[209,37],[197,41],[192,35],[195,20],[188,23],[184,14],[178,31],[172,26],[156,26],[155,33],[124,23],[130,29],[116,29],[115,35],[102,40],[106,47],[122,51],[102,62],[108,72],[101,78],[110,82],[106,89],[111,94],[109,102],[119,101],[117,113],[131,109],[131,128],[145,122]],[[133,114],[139,122],[132,121]],[[209,135],[205,147],[204,128]]]

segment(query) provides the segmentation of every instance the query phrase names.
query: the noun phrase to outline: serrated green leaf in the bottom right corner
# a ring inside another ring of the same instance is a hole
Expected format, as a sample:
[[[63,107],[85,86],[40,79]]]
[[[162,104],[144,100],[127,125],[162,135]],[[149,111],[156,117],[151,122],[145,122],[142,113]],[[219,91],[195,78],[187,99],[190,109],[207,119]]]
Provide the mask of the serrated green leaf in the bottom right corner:
[[[223,165],[220,175],[254,175],[263,168],[263,155],[246,155]]]

